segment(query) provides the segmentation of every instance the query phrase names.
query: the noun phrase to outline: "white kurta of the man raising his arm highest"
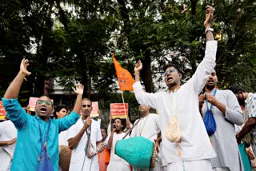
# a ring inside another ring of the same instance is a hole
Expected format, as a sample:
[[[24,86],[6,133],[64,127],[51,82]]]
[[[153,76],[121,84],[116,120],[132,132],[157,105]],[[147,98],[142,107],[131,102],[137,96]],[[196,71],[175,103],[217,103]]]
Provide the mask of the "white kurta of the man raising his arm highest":
[[[198,94],[204,87],[206,78],[214,70],[216,51],[216,41],[206,42],[205,58],[198,65],[193,77],[174,92],[146,93],[140,82],[135,82],[133,85],[138,103],[158,110],[162,153],[168,164],[175,161],[198,161],[216,156],[198,109]],[[181,157],[178,156],[178,144],[168,141],[165,136],[168,121],[174,114],[178,115],[182,131]]]

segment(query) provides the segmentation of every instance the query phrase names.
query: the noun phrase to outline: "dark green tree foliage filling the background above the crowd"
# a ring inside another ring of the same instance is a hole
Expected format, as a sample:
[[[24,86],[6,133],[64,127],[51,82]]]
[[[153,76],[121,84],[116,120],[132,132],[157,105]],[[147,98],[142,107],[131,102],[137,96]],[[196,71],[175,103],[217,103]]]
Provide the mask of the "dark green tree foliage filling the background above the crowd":
[[[187,10],[182,13],[182,3]],[[134,62],[143,62],[146,91],[162,88],[159,79],[166,63],[182,70],[186,82],[205,50],[203,21],[206,3],[199,1],[42,1],[0,2],[0,96],[18,73],[23,57],[30,59],[32,75],[22,89],[22,99],[43,93],[44,82],[57,79],[70,90],[85,85],[85,96],[104,104],[119,101],[110,52],[133,73]],[[218,86],[245,85],[254,91],[254,0],[215,1],[214,30],[218,37]],[[114,95],[113,95],[114,94]],[[136,101],[125,93],[127,101]],[[127,97],[126,97],[127,96]],[[106,102],[108,101],[108,102]]]

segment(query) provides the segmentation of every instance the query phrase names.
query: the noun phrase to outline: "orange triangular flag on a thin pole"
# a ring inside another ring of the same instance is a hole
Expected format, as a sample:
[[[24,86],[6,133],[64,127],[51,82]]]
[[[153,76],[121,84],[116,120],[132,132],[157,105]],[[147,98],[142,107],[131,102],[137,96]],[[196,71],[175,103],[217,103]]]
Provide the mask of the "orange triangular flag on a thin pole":
[[[128,70],[123,69],[120,63],[114,58],[114,53],[112,53],[112,58],[114,61],[114,68],[118,76],[118,84],[121,90],[133,91],[134,78],[131,76]]]

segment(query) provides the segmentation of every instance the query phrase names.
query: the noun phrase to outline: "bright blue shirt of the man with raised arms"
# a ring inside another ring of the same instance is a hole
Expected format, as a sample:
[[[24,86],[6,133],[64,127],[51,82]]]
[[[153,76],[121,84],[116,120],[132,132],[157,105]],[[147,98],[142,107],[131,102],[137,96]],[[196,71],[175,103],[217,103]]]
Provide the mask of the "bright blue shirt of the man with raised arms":
[[[33,117],[22,109],[18,99],[2,98],[3,106],[6,109],[7,117],[10,118],[18,129],[18,138],[14,150],[14,158],[11,170],[37,170],[38,157],[41,151],[40,133],[38,122],[42,130],[42,140],[45,141],[48,122],[50,121],[47,150],[50,156],[50,163],[54,170],[58,170],[58,133],[69,129],[79,119],[79,115],[72,111],[70,115],[61,119],[49,119],[43,121],[40,117]]]

